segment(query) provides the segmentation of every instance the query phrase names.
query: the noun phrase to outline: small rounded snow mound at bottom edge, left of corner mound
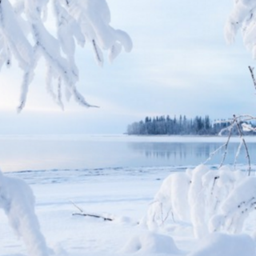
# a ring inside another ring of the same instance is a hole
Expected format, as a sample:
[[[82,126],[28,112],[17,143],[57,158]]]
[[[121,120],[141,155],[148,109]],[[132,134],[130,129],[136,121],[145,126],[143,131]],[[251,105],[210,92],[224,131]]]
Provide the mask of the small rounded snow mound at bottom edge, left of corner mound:
[[[123,253],[140,252],[143,254],[182,254],[173,238],[163,234],[146,233],[131,238],[122,249]]]

